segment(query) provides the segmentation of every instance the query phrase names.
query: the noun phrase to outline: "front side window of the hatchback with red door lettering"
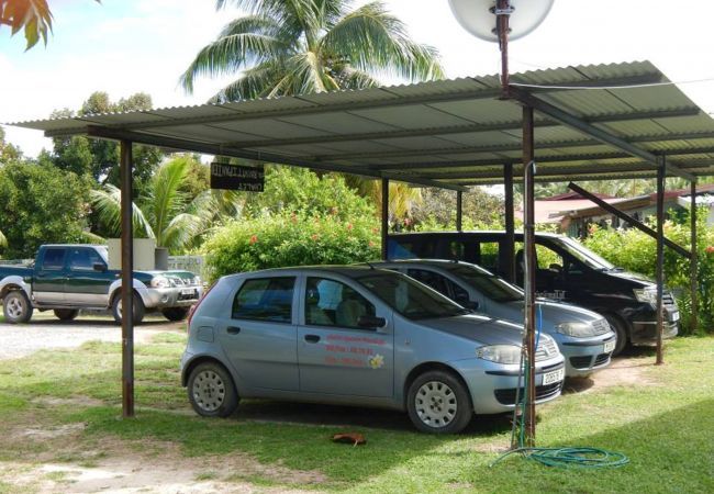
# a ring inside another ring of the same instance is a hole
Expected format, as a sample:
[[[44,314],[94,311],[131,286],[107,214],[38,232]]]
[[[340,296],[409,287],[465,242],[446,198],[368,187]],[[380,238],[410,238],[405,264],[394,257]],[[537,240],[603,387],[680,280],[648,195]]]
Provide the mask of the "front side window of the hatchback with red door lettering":
[[[305,324],[359,328],[359,318],[375,306],[352,287],[324,278],[308,278]]]

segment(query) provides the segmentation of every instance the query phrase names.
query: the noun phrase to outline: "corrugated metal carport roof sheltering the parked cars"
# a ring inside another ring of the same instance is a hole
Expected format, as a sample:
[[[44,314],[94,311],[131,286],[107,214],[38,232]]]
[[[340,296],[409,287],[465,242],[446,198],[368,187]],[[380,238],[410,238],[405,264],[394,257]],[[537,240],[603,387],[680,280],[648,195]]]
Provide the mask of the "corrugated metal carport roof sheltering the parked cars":
[[[649,61],[534,70],[511,79],[638,149],[667,154],[668,162],[694,175],[714,173],[714,121]],[[48,136],[123,136],[423,184],[478,184],[500,182],[503,165],[514,165],[516,175],[522,169],[522,105],[499,96],[499,77],[486,76],[13,125]],[[535,122],[537,180],[655,175],[654,164],[555,116],[536,111]]]

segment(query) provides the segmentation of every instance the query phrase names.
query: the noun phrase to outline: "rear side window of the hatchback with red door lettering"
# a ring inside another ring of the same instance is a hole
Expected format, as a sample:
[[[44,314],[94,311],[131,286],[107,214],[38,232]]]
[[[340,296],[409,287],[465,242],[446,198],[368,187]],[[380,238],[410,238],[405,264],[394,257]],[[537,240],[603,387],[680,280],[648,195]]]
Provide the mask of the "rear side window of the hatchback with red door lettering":
[[[294,285],[294,278],[246,280],[233,300],[233,318],[291,323]]]

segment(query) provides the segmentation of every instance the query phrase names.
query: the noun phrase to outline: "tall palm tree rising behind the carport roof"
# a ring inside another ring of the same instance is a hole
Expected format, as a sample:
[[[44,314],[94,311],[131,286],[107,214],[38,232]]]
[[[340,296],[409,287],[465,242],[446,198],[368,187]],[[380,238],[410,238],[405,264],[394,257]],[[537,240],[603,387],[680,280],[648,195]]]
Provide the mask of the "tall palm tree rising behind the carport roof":
[[[381,1],[350,10],[353,0],[217,0],[249,12],[199,52],[180,83],[242,71],[214,102],[362,89],[377,76],[410,81],[444,77],[435,48],[413,42]]]

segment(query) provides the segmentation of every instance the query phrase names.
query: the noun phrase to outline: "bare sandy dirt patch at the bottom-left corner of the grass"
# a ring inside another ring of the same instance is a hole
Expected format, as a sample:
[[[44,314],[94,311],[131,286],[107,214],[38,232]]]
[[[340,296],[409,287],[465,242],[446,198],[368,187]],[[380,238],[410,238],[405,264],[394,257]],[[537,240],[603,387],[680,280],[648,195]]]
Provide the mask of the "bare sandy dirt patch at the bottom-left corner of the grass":
[[[79,425],[81,426],[81,425]],[[32,440],[59,439],[59,429],[25,434]],[[75,434],[80,427],[64,434]],[[25,429],[24,433],[27,433]],[[62,442],[71,444],[67,438]],[[58,441],[57,441],[58,442]],[[96,450],[53,450],[54,461],[42,454],[40,464],[4,463],[0,479],[19,490],[41,493],[298,493],[294,489],[257,487],[264,483],[316,485],[326,479],[321,472],[295,471],[280,464],[261,464],[243,453],[185,458],[178,445],[161,441],[102,440]],[[58,463],[56,458],[72,458]]]

